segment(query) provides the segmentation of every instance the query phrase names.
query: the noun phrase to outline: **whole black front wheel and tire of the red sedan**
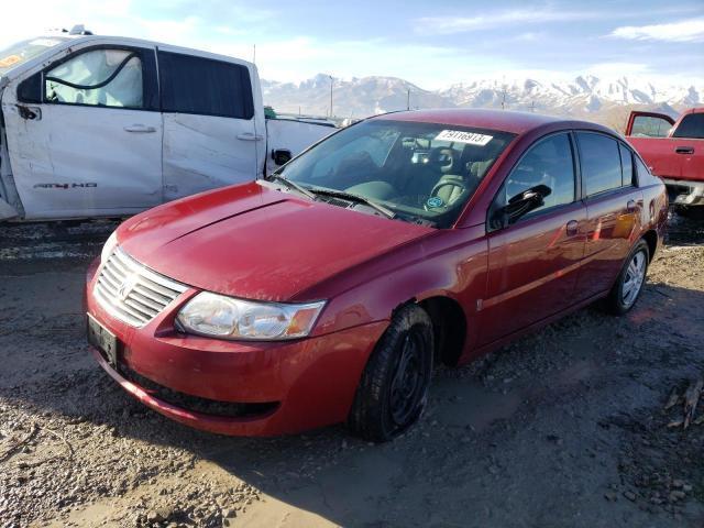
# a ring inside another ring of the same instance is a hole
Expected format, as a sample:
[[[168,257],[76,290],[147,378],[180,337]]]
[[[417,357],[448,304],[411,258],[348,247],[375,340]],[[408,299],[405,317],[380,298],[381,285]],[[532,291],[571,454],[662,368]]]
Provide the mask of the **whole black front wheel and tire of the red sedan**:
[[[400,308],[362,373],[348,427],[386,442],[413,426],[426,407],[435,350],[432,322],[417,305]]]

